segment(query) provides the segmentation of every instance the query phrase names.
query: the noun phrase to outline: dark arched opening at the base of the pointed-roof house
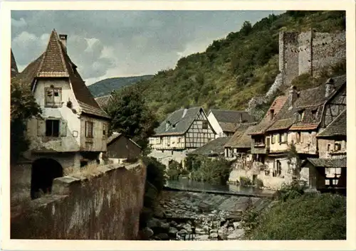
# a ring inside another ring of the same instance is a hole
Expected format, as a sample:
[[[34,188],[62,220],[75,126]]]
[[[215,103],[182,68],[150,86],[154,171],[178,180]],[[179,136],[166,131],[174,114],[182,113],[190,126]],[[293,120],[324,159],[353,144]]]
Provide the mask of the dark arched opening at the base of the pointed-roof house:
[[[31,169],[31,199],[40,193],[51,193],[54,178],[63,176],[63,168],[54,159],[36,159]]]

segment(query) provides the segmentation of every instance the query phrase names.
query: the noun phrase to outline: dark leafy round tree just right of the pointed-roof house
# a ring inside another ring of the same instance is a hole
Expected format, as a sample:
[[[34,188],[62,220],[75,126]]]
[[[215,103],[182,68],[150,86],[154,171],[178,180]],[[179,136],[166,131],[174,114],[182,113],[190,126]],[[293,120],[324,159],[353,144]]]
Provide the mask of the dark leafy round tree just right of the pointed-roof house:
[[[159,124],[140,90],[137,87],[124,87],[120,92],[114,92],[106,112],[112,117],[110,134],[114,131],[124,134],[147,154],[148,138],[155,134]]]

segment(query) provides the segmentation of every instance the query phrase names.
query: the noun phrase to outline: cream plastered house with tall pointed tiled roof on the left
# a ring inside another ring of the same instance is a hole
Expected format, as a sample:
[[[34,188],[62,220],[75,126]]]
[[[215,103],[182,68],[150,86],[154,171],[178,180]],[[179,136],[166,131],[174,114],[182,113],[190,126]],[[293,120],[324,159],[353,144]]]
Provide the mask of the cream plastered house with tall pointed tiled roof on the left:
[[[52,31],[46,50],[33,60],[16,81],[31,88],[41,117],[27,124],[33,161],[31,194],[51,190],[63,169],[100,161],[107,150],[110,117],[95,102],[77,66],[67,53],[67,36]]]

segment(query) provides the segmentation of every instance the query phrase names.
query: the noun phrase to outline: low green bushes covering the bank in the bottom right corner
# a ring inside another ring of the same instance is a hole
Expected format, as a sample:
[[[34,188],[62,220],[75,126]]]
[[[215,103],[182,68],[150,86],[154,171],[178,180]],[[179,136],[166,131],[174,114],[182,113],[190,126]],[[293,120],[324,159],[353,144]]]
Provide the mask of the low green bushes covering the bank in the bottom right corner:
[[[250,218],[247,224],[252,228],[246,233],[250,240],[346,239],[346,198],[331,193],[278,201],[265,213]]]

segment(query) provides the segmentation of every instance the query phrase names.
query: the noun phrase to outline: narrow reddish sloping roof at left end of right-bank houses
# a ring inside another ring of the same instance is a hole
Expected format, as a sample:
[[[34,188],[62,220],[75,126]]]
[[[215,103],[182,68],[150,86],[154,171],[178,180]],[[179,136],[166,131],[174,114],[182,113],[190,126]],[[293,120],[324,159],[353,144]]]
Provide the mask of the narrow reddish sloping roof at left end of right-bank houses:
[[[273,101],[271,107],[269,107],[268,112],[266,112],[265,117],[263,117],[261,122],[259,124],[257,124],[256,127],[253,128],[253,131],[250,132],[250,134],[263,134],[264,132],[266,132],[268,127],[270,127],[273,122],[275,122],[277,119],[279,119],[280,112],[287,101],[288,101],[287,95],[276,97],[276,99]],[[273,110],[273,113],[274,113],[273,120],[271,120],[271,118],[270,118],[271,110]]]

